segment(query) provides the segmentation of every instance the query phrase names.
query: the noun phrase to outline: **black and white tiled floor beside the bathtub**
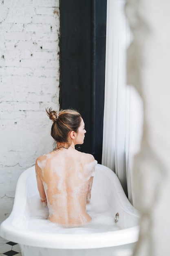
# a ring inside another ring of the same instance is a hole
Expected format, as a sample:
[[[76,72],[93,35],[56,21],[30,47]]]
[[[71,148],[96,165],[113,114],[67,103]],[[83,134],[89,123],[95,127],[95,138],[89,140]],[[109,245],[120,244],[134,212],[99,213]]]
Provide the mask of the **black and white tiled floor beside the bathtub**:
[[[0,237],[0,256],[22,256],[21,250],[18,244],[9,242]]]

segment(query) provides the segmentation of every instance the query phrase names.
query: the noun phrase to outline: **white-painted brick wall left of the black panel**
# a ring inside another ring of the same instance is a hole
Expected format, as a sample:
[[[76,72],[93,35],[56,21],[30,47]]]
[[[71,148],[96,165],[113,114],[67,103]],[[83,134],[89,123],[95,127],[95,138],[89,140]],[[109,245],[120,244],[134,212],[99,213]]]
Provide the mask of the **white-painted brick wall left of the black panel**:
[[[0,0],[0,221],[20,173],[53,149],[45,108],[59,108],[59,29],[59,0]]]

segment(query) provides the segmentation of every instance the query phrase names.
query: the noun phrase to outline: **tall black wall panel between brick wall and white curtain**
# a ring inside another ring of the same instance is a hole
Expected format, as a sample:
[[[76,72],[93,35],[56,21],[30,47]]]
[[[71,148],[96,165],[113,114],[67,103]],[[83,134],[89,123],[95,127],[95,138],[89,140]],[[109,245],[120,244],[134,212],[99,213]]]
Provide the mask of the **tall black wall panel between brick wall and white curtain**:
[[[101,163],[106,0],[60,0],[60,108],[77,109],[87,131],[79,150]]]

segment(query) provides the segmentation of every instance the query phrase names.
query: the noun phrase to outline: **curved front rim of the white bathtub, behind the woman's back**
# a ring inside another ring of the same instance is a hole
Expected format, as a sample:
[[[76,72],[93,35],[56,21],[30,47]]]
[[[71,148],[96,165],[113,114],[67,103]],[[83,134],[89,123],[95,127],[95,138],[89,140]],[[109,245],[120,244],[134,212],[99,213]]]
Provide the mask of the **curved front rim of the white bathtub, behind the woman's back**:
[[[4,221],[5,222],[5,221]],[[54,234],[35,231],[16,230],[11,225],[1,224],[0,235],[7,240],[20,245],[51,249],[95,249],[115,247],[135,243],[139,236],[139,226],[116,231],[92,234]]]

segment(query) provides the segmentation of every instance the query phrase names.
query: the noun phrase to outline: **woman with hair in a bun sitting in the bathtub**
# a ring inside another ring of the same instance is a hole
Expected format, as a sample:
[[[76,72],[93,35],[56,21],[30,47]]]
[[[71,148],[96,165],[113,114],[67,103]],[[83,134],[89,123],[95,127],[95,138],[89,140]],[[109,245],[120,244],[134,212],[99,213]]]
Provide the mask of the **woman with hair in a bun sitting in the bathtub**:
[[[75,150],[83,144],[86,130],[75,110],[46,110],[53,121],[51,136],[56,148],[36,159],[35,171],[42,202],[49,207],[49,220],[66,227],[77,227],[91,221],[86,212],[90,203],[94,169],[93,155]]]

